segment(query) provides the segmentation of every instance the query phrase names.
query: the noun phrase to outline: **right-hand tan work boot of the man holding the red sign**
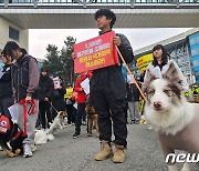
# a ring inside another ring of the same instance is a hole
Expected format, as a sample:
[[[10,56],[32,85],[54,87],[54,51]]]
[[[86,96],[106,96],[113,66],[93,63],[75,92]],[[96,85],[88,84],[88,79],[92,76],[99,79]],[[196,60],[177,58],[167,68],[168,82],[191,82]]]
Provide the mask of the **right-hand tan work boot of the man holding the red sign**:
[[[124,145],[115,145],[115,151],[112,160],[114,163],[123,163],[125,161]]]

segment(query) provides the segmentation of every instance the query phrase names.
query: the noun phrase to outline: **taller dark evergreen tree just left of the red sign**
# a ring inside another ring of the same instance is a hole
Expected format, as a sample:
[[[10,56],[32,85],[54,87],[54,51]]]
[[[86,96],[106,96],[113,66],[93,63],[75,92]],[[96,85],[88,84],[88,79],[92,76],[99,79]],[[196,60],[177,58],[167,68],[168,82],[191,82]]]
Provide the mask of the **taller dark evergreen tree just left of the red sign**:
[[[65,83],[74,82],[74,63],[72,59],[73,44],[76,42],[76,39],[73,37],[66,37],[64,40],[64,47],[60,53],[60,60],[62,63],[62,74]]]

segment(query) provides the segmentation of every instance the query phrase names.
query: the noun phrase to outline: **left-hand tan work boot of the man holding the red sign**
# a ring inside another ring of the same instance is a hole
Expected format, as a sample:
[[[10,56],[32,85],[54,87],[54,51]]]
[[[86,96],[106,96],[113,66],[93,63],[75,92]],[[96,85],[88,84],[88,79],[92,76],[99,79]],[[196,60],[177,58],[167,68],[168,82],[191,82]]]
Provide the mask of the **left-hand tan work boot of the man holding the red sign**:
[[[113,151],[111,144],[108,144],[107,141],[102,141],[101,151],[97,154],[95,154],[95,160],[97,161],[105,160],[112,155],[113,155]]]

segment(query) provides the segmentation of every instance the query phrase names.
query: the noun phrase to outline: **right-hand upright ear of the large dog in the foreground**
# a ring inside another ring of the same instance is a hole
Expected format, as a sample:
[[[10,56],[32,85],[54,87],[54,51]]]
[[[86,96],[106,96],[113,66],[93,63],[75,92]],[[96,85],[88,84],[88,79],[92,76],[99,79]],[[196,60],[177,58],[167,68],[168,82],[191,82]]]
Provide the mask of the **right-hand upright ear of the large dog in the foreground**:
[[[172,82],[177,89],[181,90],[181,79],[178,69],[172,62],[169,64],[168,70],[163,74],[163,78],[168,80],[169,82]]]

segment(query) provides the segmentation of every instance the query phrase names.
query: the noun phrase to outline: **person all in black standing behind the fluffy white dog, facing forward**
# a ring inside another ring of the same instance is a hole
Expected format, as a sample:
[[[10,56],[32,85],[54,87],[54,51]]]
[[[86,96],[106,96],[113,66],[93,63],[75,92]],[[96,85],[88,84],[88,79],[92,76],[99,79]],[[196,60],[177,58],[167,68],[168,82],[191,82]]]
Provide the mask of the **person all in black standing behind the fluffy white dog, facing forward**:
[[[48,74],[48,69],[42,68],[40,74],[39,82],[39,109],[40,109],[40,121],[42,124],[42,129],[50,128],[49,123],[52,123],[51,117],[51,104],[50,101],[52,99],[54,91],[53,80]],[[48,119],[48,122],[46,122]]]

